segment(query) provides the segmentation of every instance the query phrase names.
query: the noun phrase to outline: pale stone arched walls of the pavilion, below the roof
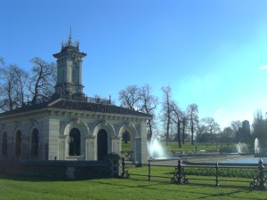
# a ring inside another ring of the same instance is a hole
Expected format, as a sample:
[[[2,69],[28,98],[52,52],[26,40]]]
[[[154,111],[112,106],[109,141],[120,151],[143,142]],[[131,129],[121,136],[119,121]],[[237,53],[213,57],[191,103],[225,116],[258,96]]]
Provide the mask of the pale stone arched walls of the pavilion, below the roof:
[[[148,157],[147,118],[147,116],[92,113],[49,107],[2,115],[0,116],[0,157],[20,160],[98,160],[101,159],[100,148],[107,149],[107,154],[119,154],[122,133],[127,131],[131,135],[133,161],[143,163]],[[73,129],[80,132],[79,155],[69,155],[69,133]],[[36,142],[33,141],[36,130],[37,148]],[[98,134],[101,130],[107,133],[105,144],[98,142]],[[6,145],[4,132],[7,133]],[[20,132],[21,140],[18,139]],[[5,146],[7,146],[6,154]],[[34,148],[36,148],[36,154],[33,154]]]

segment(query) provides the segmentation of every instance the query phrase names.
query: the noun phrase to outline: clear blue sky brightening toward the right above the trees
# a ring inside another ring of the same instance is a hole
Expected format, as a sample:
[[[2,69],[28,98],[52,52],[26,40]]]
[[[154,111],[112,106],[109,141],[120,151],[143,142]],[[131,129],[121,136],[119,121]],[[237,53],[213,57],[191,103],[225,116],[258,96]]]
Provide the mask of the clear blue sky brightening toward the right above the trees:
[[[117,100],[128,85],[170,85],[221,128],[267,111],[266,0],[1,0],[0,57],[31,67],[80,39],[84,92]]]

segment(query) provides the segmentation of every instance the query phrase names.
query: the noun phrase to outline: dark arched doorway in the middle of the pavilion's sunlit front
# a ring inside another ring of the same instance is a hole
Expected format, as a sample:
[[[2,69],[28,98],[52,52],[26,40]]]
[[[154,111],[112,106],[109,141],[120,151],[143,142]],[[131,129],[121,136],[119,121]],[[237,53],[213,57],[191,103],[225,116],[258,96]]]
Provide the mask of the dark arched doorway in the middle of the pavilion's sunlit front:
[[[108,133],[101,129],[97,134],[97,159],[102,160],[108,155]]]

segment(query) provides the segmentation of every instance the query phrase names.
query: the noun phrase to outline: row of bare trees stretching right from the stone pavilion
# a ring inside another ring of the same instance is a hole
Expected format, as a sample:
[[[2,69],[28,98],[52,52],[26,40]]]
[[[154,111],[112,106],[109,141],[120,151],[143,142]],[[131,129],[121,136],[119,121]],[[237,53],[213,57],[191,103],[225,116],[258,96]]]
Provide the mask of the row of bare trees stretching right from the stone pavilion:
[[[190,141],[191,145],[194,145],[195,141],[206,144],[244,142],[254,147],[257,138],[262,147],[266,146],[267,114],[263,117],[261,110],[255,113],[253,124],[250,125],[247,120],[244,122],[237,120],[222,130],[214,117],[199,118],[196,103],[191,103],[182,110],[178,102],[173,99],[170,86],[162,87],[161,92],[161,102],[153,95],[149,84],[142,87],[130,85],[118,94],[122,107],[153,116],[148,121],[148,140],[160,136],[161,140],[166,141],[166,145],[170,141],[175,141],[179,148],[185,141]]]

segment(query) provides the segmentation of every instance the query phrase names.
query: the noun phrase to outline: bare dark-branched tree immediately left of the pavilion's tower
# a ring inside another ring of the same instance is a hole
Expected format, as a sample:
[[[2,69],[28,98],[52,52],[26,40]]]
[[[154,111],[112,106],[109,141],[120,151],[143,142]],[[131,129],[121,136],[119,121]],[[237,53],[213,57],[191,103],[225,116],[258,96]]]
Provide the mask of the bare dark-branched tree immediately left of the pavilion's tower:
[[[55,63],[48,63],[40,58],[30,60],[33,63],[31,68],[28,90],[32,95],[32,104],[37,100],[48,99],[53,94],[53,86],[56,80]]]

